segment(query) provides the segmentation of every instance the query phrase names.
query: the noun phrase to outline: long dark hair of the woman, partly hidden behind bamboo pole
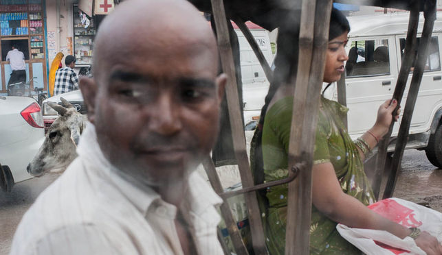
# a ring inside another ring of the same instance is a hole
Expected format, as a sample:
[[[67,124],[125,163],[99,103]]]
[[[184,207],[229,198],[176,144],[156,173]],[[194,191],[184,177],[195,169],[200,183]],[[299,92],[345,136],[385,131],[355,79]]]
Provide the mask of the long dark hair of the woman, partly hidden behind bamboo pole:
[[[275,71],[274,80],[270,84],[269,92],[265,97],[265,104],[261,109],[261,117],[259,118],[257,130],[255,132],[252,143],[255,144],[255,150],[252,151],[254,156],[254,161],[252,162],[252,171],[254,171],[254,177],[256,184],[263,182],[263,158],[261,150],[261,138],[262,138],[262,127],[264,124],[265,113],[269,106],[270,101],[274,97],[276,90],[278,90],[281,84],[290,81],[290,73],[295,73],[298,69],[298,42],[299,42],[299,24],[300,24],[300,13],[296,13],[287,19],[287,23],[279,27],[277,45],[278,53],[275,58]],[[340,36],[344,32],[350,32],[349,21],[346,19],[344,14],[338,9],[333,8],[331,10],[330,16],[330,27],[329,27],[329,40]],[[291,64],[293,63],[294,64]]]

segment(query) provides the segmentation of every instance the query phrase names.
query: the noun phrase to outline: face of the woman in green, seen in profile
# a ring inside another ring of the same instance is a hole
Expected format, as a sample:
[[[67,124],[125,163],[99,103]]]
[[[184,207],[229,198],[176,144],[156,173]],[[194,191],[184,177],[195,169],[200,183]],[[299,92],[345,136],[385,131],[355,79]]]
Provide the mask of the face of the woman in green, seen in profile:
[[[348,41],[347,35],[348,32],[344,32],[329,41],[325,59],[324,82],[330,83],[340,80],[345,71],[344,61],[349,59],[344,49]]]

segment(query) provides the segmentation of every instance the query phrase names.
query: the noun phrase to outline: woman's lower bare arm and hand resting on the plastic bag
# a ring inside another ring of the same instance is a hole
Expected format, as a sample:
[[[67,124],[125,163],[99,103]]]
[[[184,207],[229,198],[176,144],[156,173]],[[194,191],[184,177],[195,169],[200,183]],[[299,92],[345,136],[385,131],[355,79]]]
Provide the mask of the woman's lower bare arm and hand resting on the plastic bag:
[[[313,205],[329,219],[353,228],[386,230],[404,239],[411,230],[368,209],[359,200],[342,191],[330,162],[313,165]],[[415,240],[429,255],[442,254],[442,246],[426,232]]]

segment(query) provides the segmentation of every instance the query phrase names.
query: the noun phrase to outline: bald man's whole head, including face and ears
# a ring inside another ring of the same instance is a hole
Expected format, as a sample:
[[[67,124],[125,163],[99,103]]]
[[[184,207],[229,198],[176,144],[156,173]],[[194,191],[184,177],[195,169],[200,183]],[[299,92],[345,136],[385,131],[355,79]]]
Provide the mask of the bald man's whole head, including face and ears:
[[[93,77],[80,80],[104,156],[150,186],[186,180],[217,138],[227,80],[218,62],[187,1],[118,5],[98,30]]]

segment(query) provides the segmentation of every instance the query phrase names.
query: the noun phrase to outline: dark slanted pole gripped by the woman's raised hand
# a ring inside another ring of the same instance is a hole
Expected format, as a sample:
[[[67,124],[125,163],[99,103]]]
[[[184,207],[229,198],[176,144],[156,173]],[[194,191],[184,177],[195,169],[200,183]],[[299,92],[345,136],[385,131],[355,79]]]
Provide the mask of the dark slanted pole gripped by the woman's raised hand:
[[[417,5],[417,0],[414,1]],[[402,97],[404,97],[404,92],[408,80],[408,75],[410,74],[410,67],[415,58],[415,45],[416,45],[416,35],[417,26],[419,25],[419,8],[415,6],[410,12],[410,19],[408,21],[408,32],[405,45],[405,55],[401,63],[401,69],[399,71],[399,76],[397,77],[395,92],[393,93],[393,99],[397,100],[397,107],[401,105]],[[396,111],[395,111],[396,112]],[[390,143],[390,136],[393,132],[394,122],[391,123],[388,133],[379,142],[377,155],[376,155],[376,165],[375,173],[373,178],[373,193],[375,197],[379,199],[379,191],[381,189],[382,174],[385,169],[385,162],[387,157],[388,143]]]

